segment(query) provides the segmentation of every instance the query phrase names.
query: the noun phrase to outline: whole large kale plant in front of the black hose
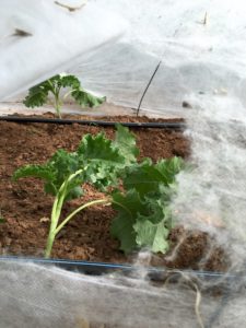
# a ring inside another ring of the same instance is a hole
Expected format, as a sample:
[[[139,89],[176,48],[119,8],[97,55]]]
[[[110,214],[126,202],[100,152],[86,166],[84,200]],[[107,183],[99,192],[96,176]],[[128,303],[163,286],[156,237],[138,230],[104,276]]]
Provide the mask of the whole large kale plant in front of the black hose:
[[[138,163],[138,154],[133,134],[118,125],[114,141],[103,133],[86,134],[75,152],[58,150],[47,163],[26,165],[14,173],[15,180],[27,176],[42,178],[45,192],[55,197],[45,257],[50,257],[61,229],[77,213],[95,204],[112,204],[116,210],[110,233],[126,254],[141,247],[153,253],[168,250],[174,223],[169,203],[184,161],[173,157],[152,163],[144,159]],[[85,183],[104,191],[104,197],[83,203],[62,218],[65,202],[82,196]]]

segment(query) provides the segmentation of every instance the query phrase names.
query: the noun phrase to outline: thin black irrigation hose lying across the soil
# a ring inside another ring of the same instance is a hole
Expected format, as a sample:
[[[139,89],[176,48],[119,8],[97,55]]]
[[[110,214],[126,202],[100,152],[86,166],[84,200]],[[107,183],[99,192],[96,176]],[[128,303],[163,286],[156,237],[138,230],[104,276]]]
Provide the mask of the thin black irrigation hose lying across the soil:
[[[36,117],[19,117],[19,116],[1,116],[0,120],[13,122],[37,122],[37,124],[56,124],[56,125],[72,125],[79,124],[84,126],[98,127],[115,127],[120,124],[129,128],[152,128],[152,129],[175,129],[183,130],[186,125],[184,122],[117,122],[102,120],[81,120],[81,119],[60,119],[60,118],[36,118]]]

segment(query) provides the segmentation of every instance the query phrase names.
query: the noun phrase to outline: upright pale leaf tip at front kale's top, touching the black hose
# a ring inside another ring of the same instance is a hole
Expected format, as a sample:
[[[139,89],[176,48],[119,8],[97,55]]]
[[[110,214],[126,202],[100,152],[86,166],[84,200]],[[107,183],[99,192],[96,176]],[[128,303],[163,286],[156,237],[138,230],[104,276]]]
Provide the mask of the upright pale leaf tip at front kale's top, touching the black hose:
[[[136,137],[128,128],[117,125],[116,138],[113,145],[124,155],[127,164],[137,162],[139,149],[136,147]]]

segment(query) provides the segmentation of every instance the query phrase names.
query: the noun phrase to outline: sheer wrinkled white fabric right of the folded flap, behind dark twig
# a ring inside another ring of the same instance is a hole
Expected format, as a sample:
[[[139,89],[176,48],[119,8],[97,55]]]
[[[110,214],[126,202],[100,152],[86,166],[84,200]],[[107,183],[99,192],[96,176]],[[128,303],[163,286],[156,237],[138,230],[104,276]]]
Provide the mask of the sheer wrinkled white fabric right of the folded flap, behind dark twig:
[[[246,28],[243,0],[91,0],[129,22],[124,39],[86,54],[72,69],[109,101],[184,116],[191,94],[223,95],[244,106]]]

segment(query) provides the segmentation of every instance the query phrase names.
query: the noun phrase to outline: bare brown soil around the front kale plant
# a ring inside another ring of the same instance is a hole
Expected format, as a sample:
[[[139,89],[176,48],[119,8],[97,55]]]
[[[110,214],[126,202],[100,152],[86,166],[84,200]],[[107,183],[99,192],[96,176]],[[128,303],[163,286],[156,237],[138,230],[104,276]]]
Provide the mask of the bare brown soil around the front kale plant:
[[[51,115],[47,115],[51,116]],[[74,118],[74,117],[73,117]],[[84,117],[80,117],[84,119]],[[98,119],[98,118],[97,118]],[[107,120],[134,121],[133,117],[113,117]],[[148,121],[138,118],[138,121]],[[152,120],[154,121],[154,120]],[[24,164],[44,163],[57,149],[73,151],[85,133],[97,133],[104,130],[114,137],[113,128],[89,126],[61,126],[48,124],[15,124],[0,121],[0,210],[4,223],[0,224],[0,253],[14,255],[43,255],[48,232],[48,219],[52,198],[45,195],[43,184],[38,179],[26,178],[13,183],[13,172]],[[153,161],[174,155],[187,157],[189,142],[180,131],[163,129],[136,129],[140,156],[149,156]],[[86,199],[92,199],[94,191],[86,187]],[[85,200],[85,199],[83,199]],[[66,204],[68,213],[81,200]],[[109,235],[109,224],[114,211],[108,207],[87,209],[71,221],[55,242],[52,257],[92,261],[126,262],[127,258],[118,250],[118,242]],[[184,230],[177,227],[171,233],[173,249],[184,236]],[[201,232],[186,232],[184,243],[176,256],[154,257],[154,265],[173,268],[202,268],[223,270],[222,250],[214,247],[207,261],[202,261],[208,253],[210,238]],[[211,249],[210,249],[211,250]]]

